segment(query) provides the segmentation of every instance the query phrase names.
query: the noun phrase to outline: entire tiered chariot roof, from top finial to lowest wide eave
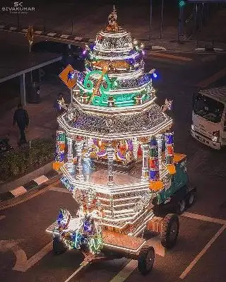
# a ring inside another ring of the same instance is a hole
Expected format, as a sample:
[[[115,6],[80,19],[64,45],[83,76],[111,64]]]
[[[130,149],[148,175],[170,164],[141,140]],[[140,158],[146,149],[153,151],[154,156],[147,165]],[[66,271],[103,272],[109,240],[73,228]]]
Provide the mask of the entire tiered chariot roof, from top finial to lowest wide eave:
[[[79,94],[59,124],[69,134],[106,140],[162,133],[172,119],[155,103],[153,70],[144,71],[143,46],[119,27],[115,9],[108,20],[94,45],[86,47]]]

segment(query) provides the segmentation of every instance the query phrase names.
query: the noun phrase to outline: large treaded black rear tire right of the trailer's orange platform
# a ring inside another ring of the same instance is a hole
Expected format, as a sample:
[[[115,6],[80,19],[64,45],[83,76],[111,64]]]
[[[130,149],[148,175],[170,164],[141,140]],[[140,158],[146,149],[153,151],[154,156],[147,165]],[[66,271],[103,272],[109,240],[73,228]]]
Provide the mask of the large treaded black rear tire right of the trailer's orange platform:
[[[177,243],[179,233],[179,219],[177,214],[169,213],[162,223],[161,243],[166,249],[171,249]]]

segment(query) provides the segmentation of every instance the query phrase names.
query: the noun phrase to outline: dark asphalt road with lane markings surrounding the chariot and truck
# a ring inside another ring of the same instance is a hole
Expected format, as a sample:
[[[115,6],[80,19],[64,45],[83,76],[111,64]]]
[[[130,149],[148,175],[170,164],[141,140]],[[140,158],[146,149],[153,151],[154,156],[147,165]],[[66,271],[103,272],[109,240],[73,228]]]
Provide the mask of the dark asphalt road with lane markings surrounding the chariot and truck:
[[[160,105],[165,98],[174,100],[169,114],[174,118],[175,151],[188,156],[190,181],[198,189],[196,204],[180,216],[177,246],[166,251],[164,257],[156,256],[153,271],[148,276],[138,273],[135,262],[120,259],[88,266],[71,281],[225,281],[226,152],[225,149],[213,151],[194,141],[189,128],[192,94],[198,89],[198,83],[225,68],[226,55],[172,55],[177,57],[147,53],[146,67],[155,67],[159,74],[155,86]],[[225,83],[225,77],[219,77],[209,86]],[[81,255],[71,251],[54,256],[51,252],[52,237],[45,233],[60,207],[76,211],[71,195],[61,188],[60,184],[55,184],[44,194],[0,211],[0,281],[65,282],[78,269]]]

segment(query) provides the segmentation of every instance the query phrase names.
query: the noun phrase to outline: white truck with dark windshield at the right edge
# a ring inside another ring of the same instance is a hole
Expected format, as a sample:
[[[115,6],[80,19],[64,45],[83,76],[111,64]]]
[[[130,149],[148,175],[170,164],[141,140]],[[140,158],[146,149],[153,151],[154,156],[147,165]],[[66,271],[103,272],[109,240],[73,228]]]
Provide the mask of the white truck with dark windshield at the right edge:
[[[194,94],[191,135],[218,149],[226,146],[226,86]]]

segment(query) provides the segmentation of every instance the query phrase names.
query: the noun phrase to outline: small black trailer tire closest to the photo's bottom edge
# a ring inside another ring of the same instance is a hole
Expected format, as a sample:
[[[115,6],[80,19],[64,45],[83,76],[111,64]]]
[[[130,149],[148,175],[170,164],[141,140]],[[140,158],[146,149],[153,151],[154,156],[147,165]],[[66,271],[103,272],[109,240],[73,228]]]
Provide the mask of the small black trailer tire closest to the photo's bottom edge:
[[[151,246],[142,247],[138,256],[138,270],[141,274],[149,274],[149,272],[153,269],[154,262],[155,249]]]

